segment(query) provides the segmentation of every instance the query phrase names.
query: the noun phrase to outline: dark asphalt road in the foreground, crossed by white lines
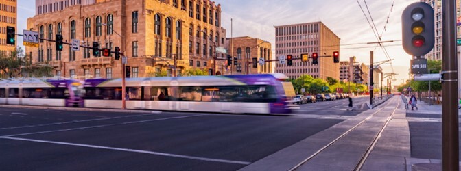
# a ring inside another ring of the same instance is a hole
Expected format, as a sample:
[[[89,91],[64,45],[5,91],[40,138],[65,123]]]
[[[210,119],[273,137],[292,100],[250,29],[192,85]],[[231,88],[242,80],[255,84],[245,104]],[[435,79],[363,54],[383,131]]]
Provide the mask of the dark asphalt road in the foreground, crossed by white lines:
[[[345,101],[301,105],[309,112],[299,114],[327,114],[324,111]],[[337,108],[334,114],[355,114]],[[0,168],[237,170],[342,122],[296,117],[299,114],[121,114],[0,108]]]

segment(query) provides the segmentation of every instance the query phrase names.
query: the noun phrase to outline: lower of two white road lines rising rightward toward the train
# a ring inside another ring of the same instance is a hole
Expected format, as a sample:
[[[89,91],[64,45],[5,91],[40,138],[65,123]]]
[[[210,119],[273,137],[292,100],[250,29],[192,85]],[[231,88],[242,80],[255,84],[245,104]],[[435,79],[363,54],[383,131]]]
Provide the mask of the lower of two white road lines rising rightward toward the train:
[[[176,116],[176,117],[169,117],[169,118],[157,118],[157,119],[152,119],[152,120],[140,120],[140,121],[133,121],[133,122],[122,122],[122,123],[117,123],[117,124],[102,124],[102,125],[95,125],[91,127],[78,127],[78,128],[73,128],[73,129],[58,129],[58,130],[53,130],[53,131],[41,131],[41,132],[34,132],[34,133],[20,133],[20,134],[14,134],[14,135],[4,135],[0,136],[1,137],[15,137],[15,136],[22,136],[22,135],[34,135],[34,134],[40,134],[40,133],[56,133],[56,132],[62,132],[62,131],[74,131],[74,130],[80,130],[80,129],[92,129],[92,128],[100,128],[100,127],[110,127],[110,126],[115,126],[115,125],[123,125],[123,124],[138,124],[142,122],[152,122],[152,121],[158,121],[158,120],[169,120],[169,119],[178,119],[178,118],[189,118],[189,117],[195,117],[195,116],[205,116],[205,115],[192,115],[192,116]]]

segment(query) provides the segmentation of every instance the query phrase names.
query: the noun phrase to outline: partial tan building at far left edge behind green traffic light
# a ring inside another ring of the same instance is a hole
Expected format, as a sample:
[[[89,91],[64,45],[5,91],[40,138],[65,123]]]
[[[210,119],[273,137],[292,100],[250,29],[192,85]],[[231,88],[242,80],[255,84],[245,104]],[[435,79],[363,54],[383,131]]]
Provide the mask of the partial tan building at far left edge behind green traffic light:
[[[8,55],[16,48],[16,45],[6,44],[6,27],[14,27],[18,33],[17,2],[16,0],[0,0],[0,6],[0,53]]]

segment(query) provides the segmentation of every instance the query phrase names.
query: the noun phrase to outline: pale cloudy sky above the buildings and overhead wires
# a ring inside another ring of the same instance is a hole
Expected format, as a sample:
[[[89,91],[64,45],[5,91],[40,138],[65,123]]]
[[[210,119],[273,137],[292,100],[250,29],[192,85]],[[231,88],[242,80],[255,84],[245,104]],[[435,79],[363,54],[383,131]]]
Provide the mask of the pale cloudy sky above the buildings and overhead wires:
[[[141,0],[132,0],[141,1]],[[357,57],[357,61],[370,64],[370,51],[374,53],[374,61],[387,60],[383,49],[376,44],[373,32],[376,29],[381,40],[393,40],[385,43],[386,51],[392,61],[397,83],[408,79],[410,55],[403,51],[401,46],[401,14],[410,3],[418,0],[212,0],[221,4],[222,27],[226,29],[226,36],[231,37],[231,18],[233,19],[233,36],[250,36],[272,43],[275,50],[276,25],[294,23],[309,23],[322,21],[331,31],[340,37],[340,60],[348,57]],[[357,3],[358,2],[358,3]],[[365,2],[368,5],[366,8]],[[391,5],[394,3],[391,11]],[[360,5],[364,9],[366,17]],[[34,0],[18,1],[18,30],[26,27],[27,18],[35,15]],[[373,18],[373,23],[371,18]],[[389,16],[389,18],[388,18]],[[386,29],[383,31],[384,25]],[[19,31],[21,33],[21,31]],[[22,39],[19,38],[19,44]],[[350,45],[355,44],[355,45]],[[273,53],[274,53],[273,50]],[[384,73],[392,73],[390,64],[382,64]]]

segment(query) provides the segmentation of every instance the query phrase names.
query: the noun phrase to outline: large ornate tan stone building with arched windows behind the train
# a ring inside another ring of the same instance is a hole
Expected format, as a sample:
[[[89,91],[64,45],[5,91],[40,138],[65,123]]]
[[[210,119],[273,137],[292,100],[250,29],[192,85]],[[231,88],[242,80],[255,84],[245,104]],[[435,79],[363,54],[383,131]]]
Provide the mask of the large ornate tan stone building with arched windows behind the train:
[[[128,57],[131,77],[153,77],[162,71],[180,75],[189,68],[211,73],[213,57],[224,57],[214,50],[224,46],[226,38],[220,25],[221,6],[208,0],[75,1],[63,10],[27,19],[27,29],[38,31],[40,38],[54,40],[61,34],[64,42],[77,39],[86,46],[98,42],[100,49],[111,51],[120,47]],[[52,66],[56,76],[124,77],[121,61],[114,60],[113,54],[93,57],[91,49],[72,51],[65,44],[63,51],[56,51],[54,42],[47,41],[38,48],[27,47],[26,52],[33,63]],[[224,60],[216,62],[221,74]]]

